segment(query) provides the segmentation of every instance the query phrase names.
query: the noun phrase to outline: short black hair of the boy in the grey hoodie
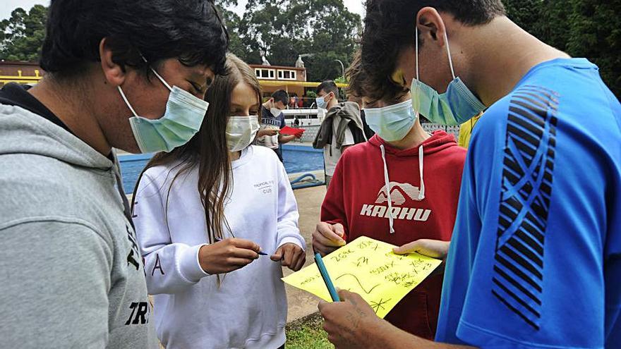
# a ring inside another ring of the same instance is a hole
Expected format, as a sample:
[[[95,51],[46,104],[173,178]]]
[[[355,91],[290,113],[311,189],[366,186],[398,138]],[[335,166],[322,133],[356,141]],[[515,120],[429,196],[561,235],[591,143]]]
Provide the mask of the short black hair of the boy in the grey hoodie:
[[[143,68],[177,58],[224,71],[229,35],[212,0],[52,0],[40,65],[56,76],[79,75],[100,61],[103,38],[121,66]]]

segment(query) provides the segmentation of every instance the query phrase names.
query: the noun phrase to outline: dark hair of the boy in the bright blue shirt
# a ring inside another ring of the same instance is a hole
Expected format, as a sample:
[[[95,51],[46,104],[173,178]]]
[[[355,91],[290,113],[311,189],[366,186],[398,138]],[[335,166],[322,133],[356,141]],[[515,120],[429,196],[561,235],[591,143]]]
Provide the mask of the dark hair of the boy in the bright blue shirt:
[[[505,15],[500,0],[368,0],[361,39],[361,65],[368,81],[363,93],[372,100],[404,92],[392,81],[396,58],[414,46],[414,20],[423,7],[450,13],[464,25],[483,25]]]

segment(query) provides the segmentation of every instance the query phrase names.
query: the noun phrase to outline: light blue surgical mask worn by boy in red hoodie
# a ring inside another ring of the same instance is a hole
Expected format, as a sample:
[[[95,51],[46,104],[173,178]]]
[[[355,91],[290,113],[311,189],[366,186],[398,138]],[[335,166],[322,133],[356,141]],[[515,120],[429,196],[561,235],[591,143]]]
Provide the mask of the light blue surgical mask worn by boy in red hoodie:
[[[386,142],[402,140],[409,133],[418,113],[412,109],[412,100],[382,106],[382,108],[365,108],[364,116],[371,130]]]

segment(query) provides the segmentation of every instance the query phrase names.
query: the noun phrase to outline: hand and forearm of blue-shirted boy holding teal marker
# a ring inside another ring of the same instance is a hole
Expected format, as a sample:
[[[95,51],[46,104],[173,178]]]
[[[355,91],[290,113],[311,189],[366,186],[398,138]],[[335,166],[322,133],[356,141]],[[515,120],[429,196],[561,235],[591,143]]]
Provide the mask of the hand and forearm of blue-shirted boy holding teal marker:
[[[397,329],[375,315],[371,307],[356,293],[339,291],[341,302],[319,303],[324,317],[323,329],[328,340],[339,349],[457,349],[464,345],[436,343]]]

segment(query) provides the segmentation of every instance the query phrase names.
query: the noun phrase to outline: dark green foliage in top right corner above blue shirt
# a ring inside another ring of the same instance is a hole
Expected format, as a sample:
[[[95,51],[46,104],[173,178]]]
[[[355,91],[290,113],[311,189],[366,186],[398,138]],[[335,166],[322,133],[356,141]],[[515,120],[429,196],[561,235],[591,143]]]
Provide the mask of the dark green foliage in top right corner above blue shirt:
[[[621,96],[621,0],[503,0],[507,15],[546,44],[600,68]]]

